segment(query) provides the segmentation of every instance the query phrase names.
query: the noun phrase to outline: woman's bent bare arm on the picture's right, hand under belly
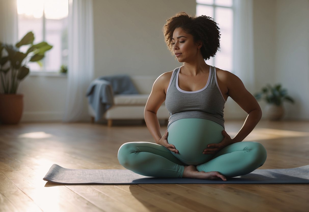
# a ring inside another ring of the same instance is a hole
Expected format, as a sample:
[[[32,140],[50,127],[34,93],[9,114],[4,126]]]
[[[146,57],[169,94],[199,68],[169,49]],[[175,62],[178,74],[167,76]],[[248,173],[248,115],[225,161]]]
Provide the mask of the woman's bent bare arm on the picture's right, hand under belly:
[[[243,141],[243,139],[251,133],[262,117],[260,105],[257,103],[254,96],[247,91],[243,82],[236,75],[228,71],[220,70],[217,76],[218,81],[221,82],[220,88],[223,88],[222,90],[226,91],[225,95],[230,96],[245,112],[247,112],[248,116],[242,128],[233,139],[223,131],[222,135],[224,136],[224,139],[222,142],[218,144],[209,144],[204,150],[204,154],[214,154],[227,145]]]

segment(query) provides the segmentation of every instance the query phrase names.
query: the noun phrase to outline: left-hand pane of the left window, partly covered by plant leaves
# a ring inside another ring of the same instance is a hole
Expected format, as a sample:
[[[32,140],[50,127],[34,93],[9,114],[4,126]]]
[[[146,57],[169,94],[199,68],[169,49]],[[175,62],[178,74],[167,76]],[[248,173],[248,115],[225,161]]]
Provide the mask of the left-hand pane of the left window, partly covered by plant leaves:
[[[44,3],[41,0],[17,0],[18,40],[21,40],[23,36],[32,31],[34,44],[43,41],[43,8]],[[21,46],[19,50],[26,52],[28,48],[29,45]],[[36,62],[29,62],[27,66],[31,71],[42,70],[42,66]]]

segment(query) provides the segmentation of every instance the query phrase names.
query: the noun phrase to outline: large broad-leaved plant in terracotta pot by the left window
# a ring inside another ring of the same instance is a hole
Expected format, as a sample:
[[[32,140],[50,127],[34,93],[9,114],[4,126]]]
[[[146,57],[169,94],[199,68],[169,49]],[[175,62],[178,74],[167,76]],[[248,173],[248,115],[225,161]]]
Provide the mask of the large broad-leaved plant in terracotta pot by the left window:
[[[28,62],[39,62],[53,46],[46,42],[33,44],[34,35],[28,32],[15,46],[0,42],[0,122],[17,124],[23,112],[23,95],[17,94],[19,82],[29,74]],[[27,52],[19,47],[28,45]]]

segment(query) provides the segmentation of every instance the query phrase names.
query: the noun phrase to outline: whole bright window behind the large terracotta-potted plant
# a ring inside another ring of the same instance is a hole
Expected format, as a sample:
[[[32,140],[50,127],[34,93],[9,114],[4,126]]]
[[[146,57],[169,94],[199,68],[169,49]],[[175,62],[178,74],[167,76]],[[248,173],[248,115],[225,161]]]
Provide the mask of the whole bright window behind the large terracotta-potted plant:
[[[68,0],[17,0],[18,39],[32,31],[34,44],[53,46],[39,63],[28,63],[30,71],[58,72],[68,62]],[[27,51],[22,46],[22,52]]]

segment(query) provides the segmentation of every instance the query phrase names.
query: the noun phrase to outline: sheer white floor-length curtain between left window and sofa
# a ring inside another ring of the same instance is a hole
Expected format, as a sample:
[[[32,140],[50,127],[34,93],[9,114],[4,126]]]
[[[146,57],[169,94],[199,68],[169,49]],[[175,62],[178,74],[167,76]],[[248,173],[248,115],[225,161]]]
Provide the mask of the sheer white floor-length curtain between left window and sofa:
[[[63,121],[85,121],[86,90],[94,75],[92,0],[69,1],[69,62]]]

